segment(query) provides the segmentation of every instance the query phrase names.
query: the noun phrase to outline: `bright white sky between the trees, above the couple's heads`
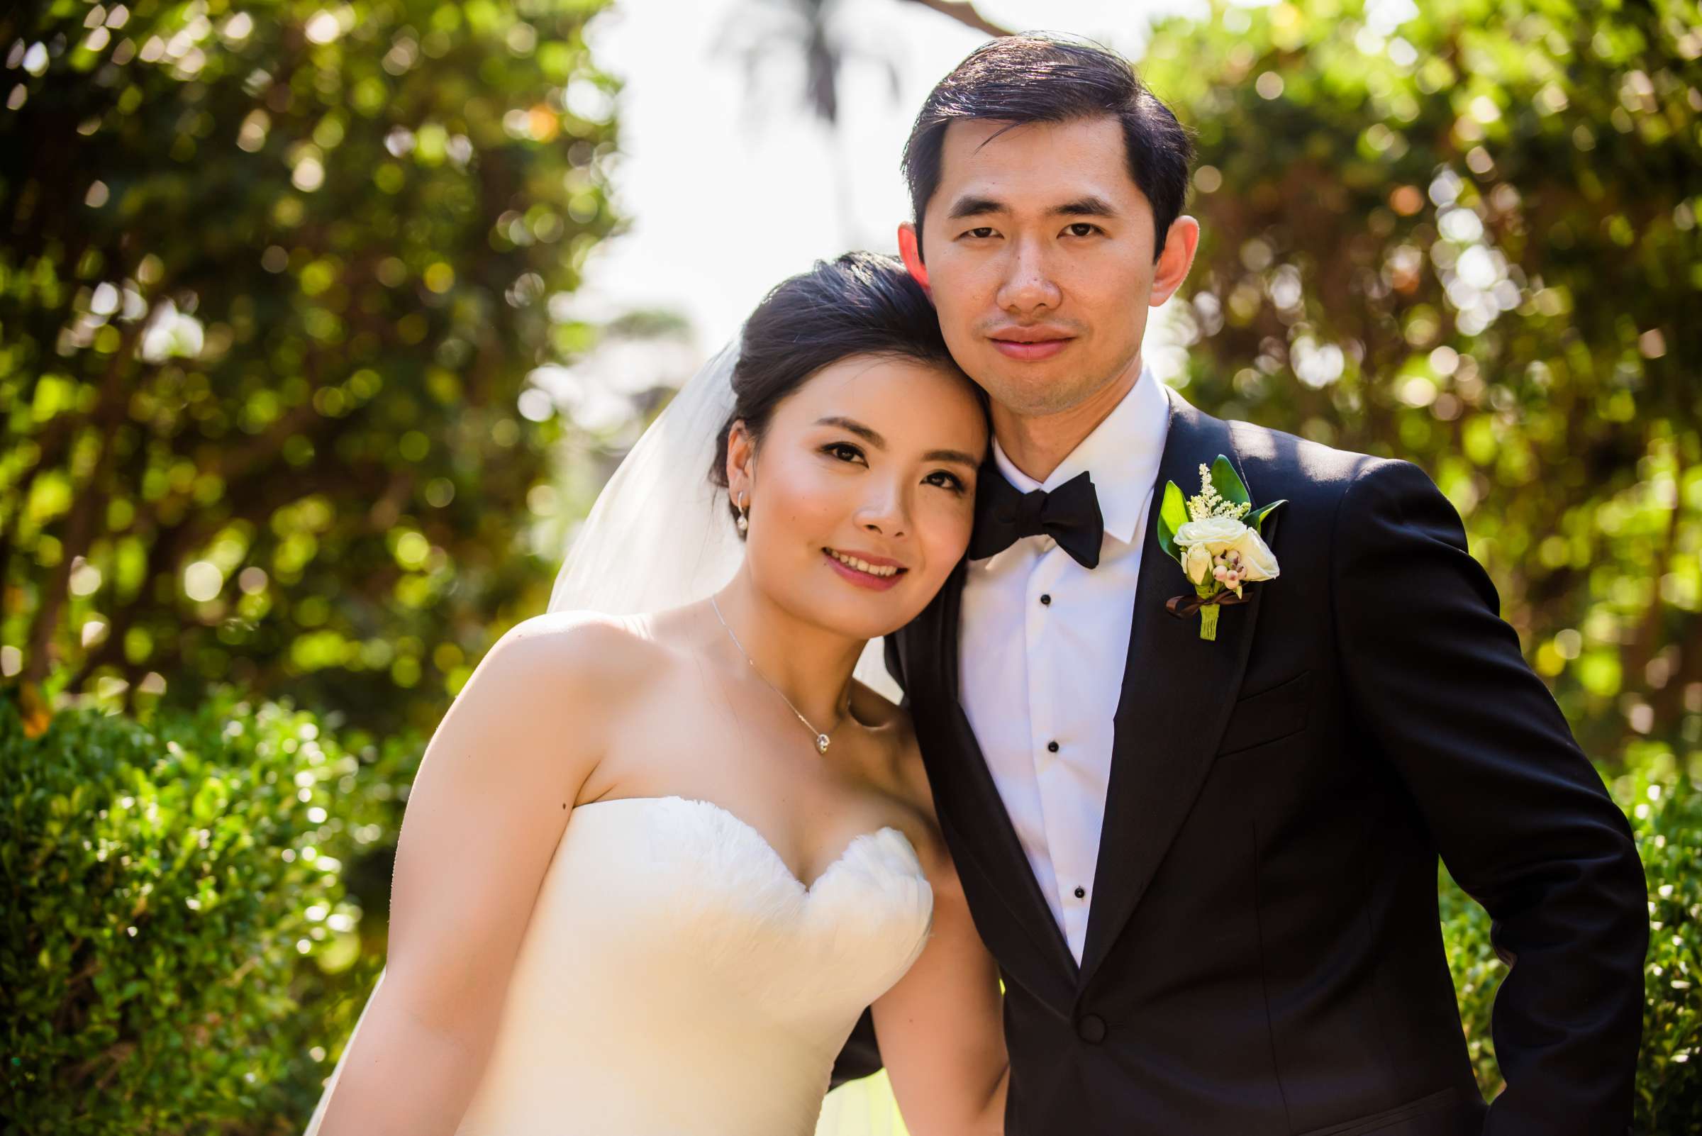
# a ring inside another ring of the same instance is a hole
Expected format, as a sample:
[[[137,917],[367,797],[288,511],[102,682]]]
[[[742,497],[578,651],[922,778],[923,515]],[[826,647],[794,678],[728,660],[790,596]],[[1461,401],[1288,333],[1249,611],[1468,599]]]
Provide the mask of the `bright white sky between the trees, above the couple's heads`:
[[[899,153],[928,90],[982,36],[907,0],[837,0],[846,44],[839,131],[803,104],[795,0],[620,0],[592,54],[626,83],[616,201],[631,228],[594,253],[591,311],[667,308],[698,352],[732,337],[762,294],[819,257],[897,252],[909,216]],[[1018,31],[1084,34],[1137,56],[1147,19],[1188,0],[979,0]],[[764,39],[764,29],[771,34]],[[744,56],[757,49],[754,83]],[[1162,92],[1161,92],[1162,94]],[[683,378],[683,376],[681,376]]]

